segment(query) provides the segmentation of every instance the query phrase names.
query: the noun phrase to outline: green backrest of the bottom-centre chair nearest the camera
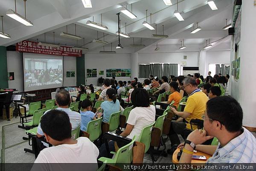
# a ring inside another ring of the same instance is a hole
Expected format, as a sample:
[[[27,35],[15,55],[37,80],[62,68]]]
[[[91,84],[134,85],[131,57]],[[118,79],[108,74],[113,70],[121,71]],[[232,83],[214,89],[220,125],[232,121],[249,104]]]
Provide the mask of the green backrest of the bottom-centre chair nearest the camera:
[[[129,144],[118,149],[118,151],[116,152],[116,156],[114,158],[115,163],[131,163],[133,149],[132,147],[135,140],[136,135],[133,137],[132,141]]]

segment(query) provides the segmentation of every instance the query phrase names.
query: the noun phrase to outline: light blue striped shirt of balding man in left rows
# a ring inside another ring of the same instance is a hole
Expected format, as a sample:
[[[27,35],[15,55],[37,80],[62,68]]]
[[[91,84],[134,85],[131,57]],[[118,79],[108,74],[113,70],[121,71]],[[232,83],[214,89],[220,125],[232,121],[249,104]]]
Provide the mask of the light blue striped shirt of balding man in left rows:
[[[75,112],[75,111],[72,111],[70,108],[61,108],[61,107],[58,107],[56,110],[62,110],[64,112],[67,113],[67,115],[69,116],[70,118],[70,123],[72,125],[72,130],[80,127],[80,123],[81,123],[81,115],[80,113],[78,112]],[[50,110],[47,110],[45,113],[49,112]],[[44,113],[44,115],[45,115]],[[44,132],[41,128],[41,124],[39,123],[38,125],[38,130],[37,130],[37,133],[40,134],[40,135],[44,135]]]

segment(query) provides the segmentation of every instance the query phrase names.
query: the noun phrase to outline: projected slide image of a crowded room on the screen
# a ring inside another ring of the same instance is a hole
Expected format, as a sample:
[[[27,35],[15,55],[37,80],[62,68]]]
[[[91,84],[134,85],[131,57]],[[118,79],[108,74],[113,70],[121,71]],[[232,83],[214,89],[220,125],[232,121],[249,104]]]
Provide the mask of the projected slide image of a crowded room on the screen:
[[[62,60],[60,59],[25,58],[24,67],[25,89],[63,82]]]

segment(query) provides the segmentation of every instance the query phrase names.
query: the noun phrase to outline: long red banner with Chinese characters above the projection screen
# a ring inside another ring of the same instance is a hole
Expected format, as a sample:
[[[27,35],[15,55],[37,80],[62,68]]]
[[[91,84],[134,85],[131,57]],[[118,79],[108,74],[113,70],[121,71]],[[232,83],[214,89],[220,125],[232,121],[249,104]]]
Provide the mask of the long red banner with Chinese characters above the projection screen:
[[[60,46],[41,46],[38,42],[34,41],[20,41],[16,44],[16,51],[28,52],[28,53],[39,53],[46,55],[60,55],[60,56],[76,56],[81,57],[82,51],[73,49],[72,47]]]

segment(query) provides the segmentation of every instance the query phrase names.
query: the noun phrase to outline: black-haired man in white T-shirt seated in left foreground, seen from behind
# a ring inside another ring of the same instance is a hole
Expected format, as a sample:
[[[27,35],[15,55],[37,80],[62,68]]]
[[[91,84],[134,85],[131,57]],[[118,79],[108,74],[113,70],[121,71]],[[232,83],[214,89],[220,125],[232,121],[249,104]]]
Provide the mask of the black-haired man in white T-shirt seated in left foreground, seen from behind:
[[[86,137],[72,139],[71,125],[70,117],[61,110],[51,110],[42,116],[44,136],[54,146],[40,151],[35,163],[97,163],[99,150],[96,145]],[[52,170],[63,170],[61,165],[52,167],[56,167]],[[96,170],[97,165],[94,167]]]

